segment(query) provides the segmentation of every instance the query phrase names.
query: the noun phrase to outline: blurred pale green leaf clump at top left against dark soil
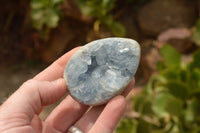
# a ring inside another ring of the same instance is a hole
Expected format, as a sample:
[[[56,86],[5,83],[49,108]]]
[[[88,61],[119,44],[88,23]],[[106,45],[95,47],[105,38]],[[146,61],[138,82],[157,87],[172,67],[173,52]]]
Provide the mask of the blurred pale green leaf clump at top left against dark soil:
[[[60,19],[59,5],[63,0],[32,0],[31,19],[37,30],[55,28]]]

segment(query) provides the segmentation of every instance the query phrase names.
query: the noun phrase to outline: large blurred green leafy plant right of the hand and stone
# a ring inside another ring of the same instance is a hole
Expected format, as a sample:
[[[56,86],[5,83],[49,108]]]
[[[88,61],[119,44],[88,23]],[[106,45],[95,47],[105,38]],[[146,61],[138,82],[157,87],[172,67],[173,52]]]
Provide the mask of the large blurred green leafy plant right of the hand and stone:
[[[200,132],[200,50],[187,64],[170,45],[162,47],[161,55],[159,74],[133,98],[139,117],[124,118],[117,133]]]

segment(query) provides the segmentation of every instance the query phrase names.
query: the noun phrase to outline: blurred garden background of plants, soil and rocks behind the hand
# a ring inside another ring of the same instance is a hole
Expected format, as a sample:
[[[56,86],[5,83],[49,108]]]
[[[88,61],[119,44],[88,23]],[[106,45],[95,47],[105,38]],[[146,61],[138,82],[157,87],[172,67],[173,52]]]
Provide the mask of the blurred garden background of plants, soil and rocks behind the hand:
[[[200,132],[200,0],[0,4],[0,103],[74,47],[127,37],[141,44],[142,55],[116,132]],[[46,107],[41,118],[54,106]]]

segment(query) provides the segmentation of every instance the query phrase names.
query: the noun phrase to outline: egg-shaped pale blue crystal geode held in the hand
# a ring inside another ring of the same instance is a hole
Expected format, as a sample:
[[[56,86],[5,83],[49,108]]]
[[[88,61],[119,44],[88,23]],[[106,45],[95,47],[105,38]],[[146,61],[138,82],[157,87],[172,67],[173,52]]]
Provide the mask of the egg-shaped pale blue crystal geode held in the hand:
[[[106,103],[132,80],[140,60],[140,46],[126,38],[90,42],[69,60],[64,79],[70,95],[86,105]]]

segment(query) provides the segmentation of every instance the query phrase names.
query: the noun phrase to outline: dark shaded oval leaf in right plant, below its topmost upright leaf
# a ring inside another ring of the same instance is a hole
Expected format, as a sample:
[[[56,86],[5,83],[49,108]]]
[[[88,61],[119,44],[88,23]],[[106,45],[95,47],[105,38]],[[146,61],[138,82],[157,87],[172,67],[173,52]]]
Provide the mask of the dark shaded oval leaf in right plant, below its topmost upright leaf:
[[[187,98],[188,90],[185,84],[174,80],[168,81],[166,86],[169,89],[170,94],[174,95],[175,97],[181,98],[183,100]]]

